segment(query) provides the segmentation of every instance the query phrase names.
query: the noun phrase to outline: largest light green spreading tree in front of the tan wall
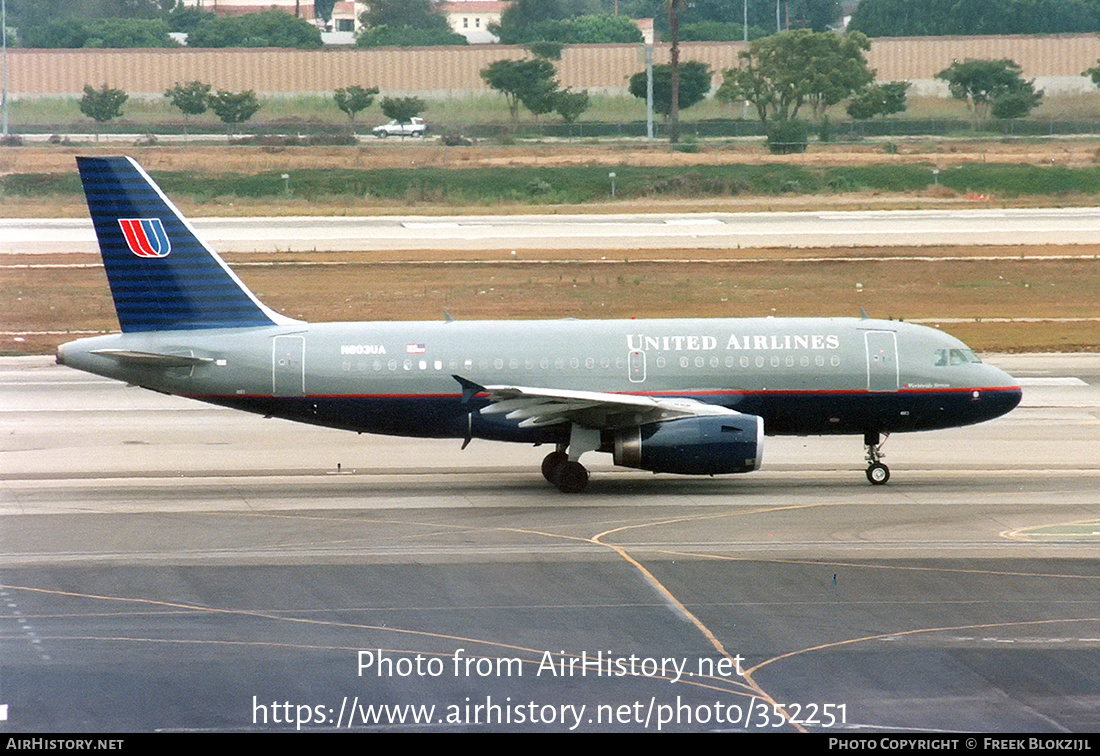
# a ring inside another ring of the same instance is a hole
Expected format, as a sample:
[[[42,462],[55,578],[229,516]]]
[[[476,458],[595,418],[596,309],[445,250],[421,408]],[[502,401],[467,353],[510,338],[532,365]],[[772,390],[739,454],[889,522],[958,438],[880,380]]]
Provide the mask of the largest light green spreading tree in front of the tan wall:
[[[724,73],[717,97],[723,102],[748,100],[763,123],[793,120],[804,105],[820,120],[829,106],[875,80],[867,50],[870,42],[859,33],[800,29],[755,40],[740,54],[740,67]]]

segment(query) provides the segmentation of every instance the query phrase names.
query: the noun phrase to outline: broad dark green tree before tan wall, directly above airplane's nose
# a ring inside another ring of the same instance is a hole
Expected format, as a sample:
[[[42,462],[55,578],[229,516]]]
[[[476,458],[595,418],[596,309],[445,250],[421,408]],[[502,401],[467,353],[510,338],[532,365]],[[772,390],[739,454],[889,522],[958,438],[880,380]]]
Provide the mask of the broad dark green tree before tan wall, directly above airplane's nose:
[[[1035,108],[1043,97],[1035,90],[1035,81],[1024,79],[1023,69],[1014,61],[956,61],[936,74],[937,79],[947,83],[952,97],[964,100],[974,119],[974,125],[983,123],[998,100],[1005,100],[997,107],[997,118],[1020,118]],[[1009,116],[1008,113],[1020,114]]]

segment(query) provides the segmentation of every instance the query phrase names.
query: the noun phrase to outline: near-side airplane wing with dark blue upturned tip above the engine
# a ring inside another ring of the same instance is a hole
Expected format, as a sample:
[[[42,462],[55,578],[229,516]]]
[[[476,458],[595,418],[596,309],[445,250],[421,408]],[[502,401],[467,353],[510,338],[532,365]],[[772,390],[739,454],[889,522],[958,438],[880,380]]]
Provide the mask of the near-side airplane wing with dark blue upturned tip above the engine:
[[[585,428],[622,428],[681,417],[739,414],[694,399],[531,386],[481,386],[458,375],[454,377],[462,384],[464,402],[479,394],[488,394],[490,404],[481,414],[503,414],[508,419],[519,420],[520,428],[558,423],[575,423]]]

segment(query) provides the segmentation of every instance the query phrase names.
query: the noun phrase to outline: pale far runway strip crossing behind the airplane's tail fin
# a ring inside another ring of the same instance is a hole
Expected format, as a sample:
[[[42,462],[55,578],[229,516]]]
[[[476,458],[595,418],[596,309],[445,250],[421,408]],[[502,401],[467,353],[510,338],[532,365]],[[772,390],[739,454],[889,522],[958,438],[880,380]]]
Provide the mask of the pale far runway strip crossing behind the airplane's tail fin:
[[[1098,208],[197,218],[219,252],[1091,244]],[[629,240],[625,245],[625,240]],[[0,254],[98,252],[91,221],[0,219]]]

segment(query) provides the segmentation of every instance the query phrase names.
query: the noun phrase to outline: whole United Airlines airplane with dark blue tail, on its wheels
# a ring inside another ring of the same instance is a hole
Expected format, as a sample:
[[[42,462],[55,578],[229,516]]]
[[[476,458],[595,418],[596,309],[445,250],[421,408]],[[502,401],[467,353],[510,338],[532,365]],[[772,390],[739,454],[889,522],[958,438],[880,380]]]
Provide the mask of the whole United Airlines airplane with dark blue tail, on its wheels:
[[[541,471],[563,493],[585,489],[590,452],[741,473],[777,435],[862,436],[881,485],[890,434],[1022,396],[958,339],[866,315],[304,322],[261,303],[133,158],[77,162],[121,332],[62,344],[58,363],[330,428],[552,445]]]

